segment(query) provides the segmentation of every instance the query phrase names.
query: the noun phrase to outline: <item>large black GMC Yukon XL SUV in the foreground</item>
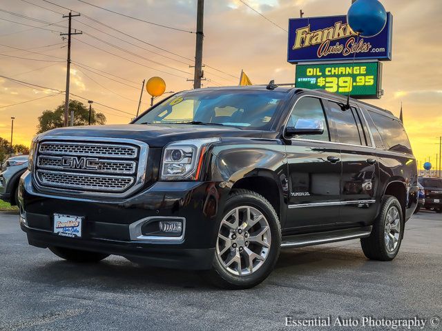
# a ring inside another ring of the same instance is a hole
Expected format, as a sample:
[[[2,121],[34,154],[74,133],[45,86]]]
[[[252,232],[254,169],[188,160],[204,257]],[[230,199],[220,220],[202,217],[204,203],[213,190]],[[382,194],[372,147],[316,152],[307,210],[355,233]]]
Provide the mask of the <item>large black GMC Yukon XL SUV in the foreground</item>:
[[[280,248],[361,238],[369,259],[392,260],[418,199],[391,112],[271,84],[180,92],[128,125],[39,134],[29,170],[30,245],[206,270],[227,288],[263,281]]]

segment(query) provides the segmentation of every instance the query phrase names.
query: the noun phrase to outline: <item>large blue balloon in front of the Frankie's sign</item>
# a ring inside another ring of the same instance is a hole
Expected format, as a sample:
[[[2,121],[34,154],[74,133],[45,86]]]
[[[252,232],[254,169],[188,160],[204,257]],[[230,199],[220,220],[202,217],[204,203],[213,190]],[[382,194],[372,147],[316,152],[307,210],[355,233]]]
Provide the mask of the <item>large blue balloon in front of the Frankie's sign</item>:
[[[387,12],[378,0],[356,0],[347,12],[347,22],[361,37],[374,37],[387,23]]]

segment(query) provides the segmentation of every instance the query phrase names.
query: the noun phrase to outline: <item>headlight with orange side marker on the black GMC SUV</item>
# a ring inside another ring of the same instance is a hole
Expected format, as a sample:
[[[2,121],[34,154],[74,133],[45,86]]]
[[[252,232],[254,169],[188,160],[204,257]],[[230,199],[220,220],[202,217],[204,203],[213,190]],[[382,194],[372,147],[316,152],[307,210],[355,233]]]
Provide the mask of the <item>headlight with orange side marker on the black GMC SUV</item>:
[[[160,179],[164,181],[198,180],[207,146],[219,138],[183,140],[164,148]]]

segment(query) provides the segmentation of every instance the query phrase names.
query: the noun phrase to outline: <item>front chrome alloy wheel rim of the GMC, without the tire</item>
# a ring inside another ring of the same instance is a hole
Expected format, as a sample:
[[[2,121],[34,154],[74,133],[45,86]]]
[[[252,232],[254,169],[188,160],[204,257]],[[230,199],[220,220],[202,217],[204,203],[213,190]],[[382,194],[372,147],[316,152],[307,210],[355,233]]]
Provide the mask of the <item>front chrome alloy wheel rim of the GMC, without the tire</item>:
[[[269,223],[256,208],[242,205],[226,214],[220,224],[216,256],[225,270],[237,276],[256,272],[271,245]]]

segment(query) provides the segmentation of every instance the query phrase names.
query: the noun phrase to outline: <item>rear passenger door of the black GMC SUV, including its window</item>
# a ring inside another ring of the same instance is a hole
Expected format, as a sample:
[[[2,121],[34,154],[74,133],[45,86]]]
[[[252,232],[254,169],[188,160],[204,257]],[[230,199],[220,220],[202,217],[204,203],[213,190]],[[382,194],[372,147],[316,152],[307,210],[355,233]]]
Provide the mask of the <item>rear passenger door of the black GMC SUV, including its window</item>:
[[[348,227],[371,224],[376,216],[378,158],[363,114],[354,104],[343,110],[342,103],[328,101],[332,141],[340,143],[342,176],[340,217]]]

